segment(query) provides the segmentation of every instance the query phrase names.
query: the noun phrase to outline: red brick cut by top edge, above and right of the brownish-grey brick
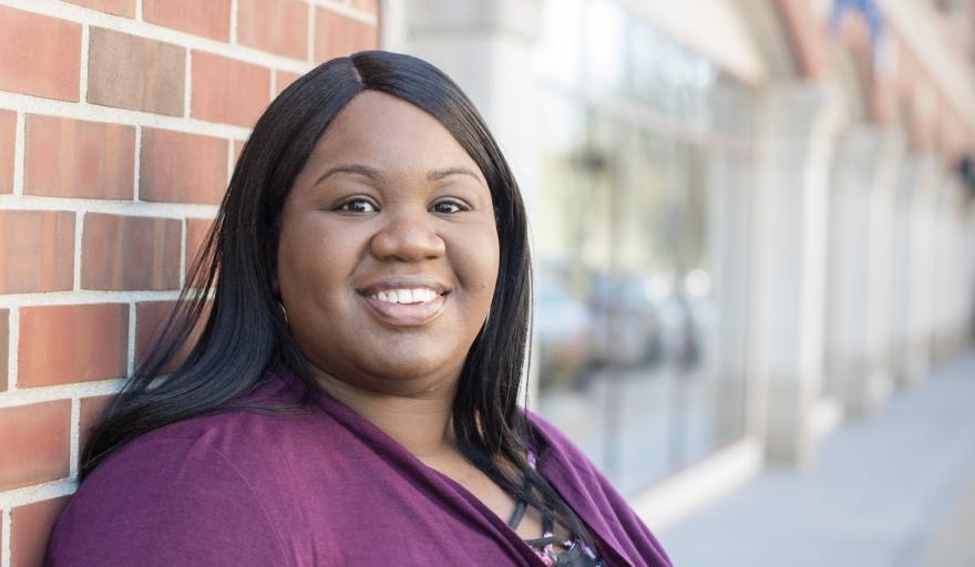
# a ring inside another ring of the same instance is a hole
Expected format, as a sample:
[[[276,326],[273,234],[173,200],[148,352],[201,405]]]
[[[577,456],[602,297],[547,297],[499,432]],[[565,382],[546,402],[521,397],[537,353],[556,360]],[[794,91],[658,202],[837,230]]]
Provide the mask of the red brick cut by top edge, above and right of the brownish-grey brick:
[[[143,0],[142,18],[174,30],[230,40],[230,0]]]

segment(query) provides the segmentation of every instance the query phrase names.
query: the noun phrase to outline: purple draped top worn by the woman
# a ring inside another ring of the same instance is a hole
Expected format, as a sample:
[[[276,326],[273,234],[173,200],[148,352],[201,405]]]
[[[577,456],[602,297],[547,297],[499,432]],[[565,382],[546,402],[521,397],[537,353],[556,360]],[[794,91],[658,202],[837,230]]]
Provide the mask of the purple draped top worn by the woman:
[[[297,402],[271,375],[255,395]],[[230,411],[124,445],[72,496],[48,565],[542,567],[506,522],[460,484],[325,392],[312,411]],[[591,528],[612,566],[670,566],[582,452],[535,414],[538,471]]]

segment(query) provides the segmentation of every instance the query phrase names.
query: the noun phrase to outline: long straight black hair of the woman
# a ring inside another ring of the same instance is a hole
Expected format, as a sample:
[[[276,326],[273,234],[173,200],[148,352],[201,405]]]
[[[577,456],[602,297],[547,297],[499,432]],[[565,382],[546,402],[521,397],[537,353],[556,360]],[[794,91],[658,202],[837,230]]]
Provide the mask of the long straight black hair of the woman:
[[[177,308],[93,429],[81,478],[129,441],[181,420],[242,408],[294,411],[239,402],[276,364],[306,382],[306,392],[318,388],[274,292],[281,209],[325,130],[367,90],[397,96],[439,120],[481,168],[494,202],[497,282],[453,403],[460,450],[501,487],[588,538],[579,518],[525,458],[530,427],[517,392],[528,348],[532,269],[517,184],[460,87],[430,63],[384,51],[319,65],[281,92],[257,121]]]

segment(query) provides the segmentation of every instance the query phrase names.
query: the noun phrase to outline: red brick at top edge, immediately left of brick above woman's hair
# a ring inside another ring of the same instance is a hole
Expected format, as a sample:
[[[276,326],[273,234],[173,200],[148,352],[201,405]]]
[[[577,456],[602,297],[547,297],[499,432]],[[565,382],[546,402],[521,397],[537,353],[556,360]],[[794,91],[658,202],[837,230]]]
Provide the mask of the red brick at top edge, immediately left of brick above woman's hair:
[[[308,3],[300,0],[239,0],[237,41],[295,59],[308,50]]]

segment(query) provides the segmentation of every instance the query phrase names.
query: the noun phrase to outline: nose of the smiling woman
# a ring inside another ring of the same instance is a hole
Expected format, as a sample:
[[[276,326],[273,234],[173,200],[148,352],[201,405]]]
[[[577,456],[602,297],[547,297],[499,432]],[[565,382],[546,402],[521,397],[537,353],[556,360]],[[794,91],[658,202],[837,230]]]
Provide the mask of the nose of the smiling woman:
[[[443,239],[423,212],[396,212],[372,237],[370,252],[380,260],[421,261],[440,258],[444,254]]]

